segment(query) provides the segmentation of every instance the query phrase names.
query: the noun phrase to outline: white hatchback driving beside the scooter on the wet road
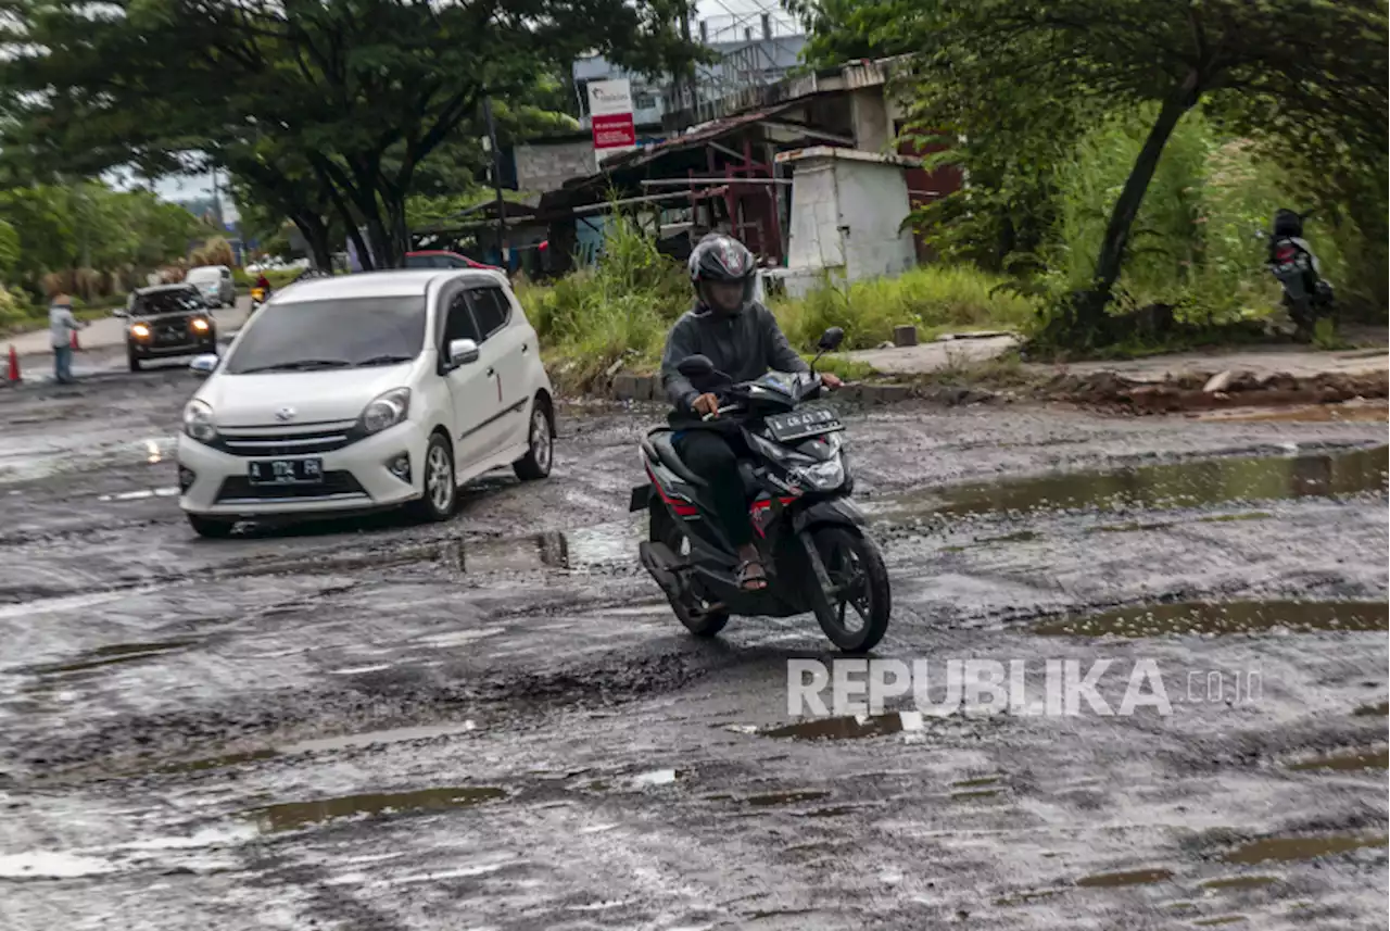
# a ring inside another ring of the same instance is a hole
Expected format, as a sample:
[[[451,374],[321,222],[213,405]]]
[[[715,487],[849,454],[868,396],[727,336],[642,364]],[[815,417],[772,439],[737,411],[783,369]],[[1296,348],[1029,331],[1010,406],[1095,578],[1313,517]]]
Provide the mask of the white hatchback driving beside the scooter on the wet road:
[[[297,282],[252,314],[183,409],[179,507],[203,536],[239,520],[406,506],[446,520],[457,488],[550,474],[555,404],[535,329],[492,271]]]

